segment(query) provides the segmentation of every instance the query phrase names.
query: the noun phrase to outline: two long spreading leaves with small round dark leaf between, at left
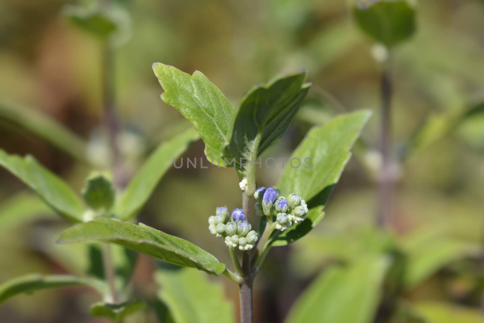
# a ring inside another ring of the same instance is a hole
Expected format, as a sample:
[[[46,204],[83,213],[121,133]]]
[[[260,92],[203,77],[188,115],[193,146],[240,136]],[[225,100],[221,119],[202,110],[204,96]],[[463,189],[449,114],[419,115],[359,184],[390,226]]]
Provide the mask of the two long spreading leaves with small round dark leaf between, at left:
[[[170,168],[173,158],[181,154],[188,144],[197,138],[197,133],[189,129],[162,143],[116,201],[114,201],[114,192],[110,191],[109,185],[106,186],[105,179],[94,177],[88,180],[91,190],[87,190],[84,194],[86,202],[94,209],[113,206],[113,212],[117,217],[124,220],[132,218],[148,200],[166,170]],[[83,221],[85,209],[76,193],[32,156],[21,158],[0,150],[0,166],[27,184],[47,205],[64,218],[71,222]]]

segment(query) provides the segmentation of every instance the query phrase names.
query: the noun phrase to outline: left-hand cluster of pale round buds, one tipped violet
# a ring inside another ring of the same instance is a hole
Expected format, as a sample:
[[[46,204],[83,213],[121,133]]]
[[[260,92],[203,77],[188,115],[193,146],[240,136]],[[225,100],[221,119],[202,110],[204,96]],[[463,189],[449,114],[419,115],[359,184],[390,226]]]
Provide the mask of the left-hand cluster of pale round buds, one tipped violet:
[[[224,237],[229,247],[250,250],[258,240],[257,232],[251,230],[251,224],[245,219],[242,209],[234,209],[228,216],[227,207],[218,207],[216,215],[209,217],[209,230],[216,237]]]

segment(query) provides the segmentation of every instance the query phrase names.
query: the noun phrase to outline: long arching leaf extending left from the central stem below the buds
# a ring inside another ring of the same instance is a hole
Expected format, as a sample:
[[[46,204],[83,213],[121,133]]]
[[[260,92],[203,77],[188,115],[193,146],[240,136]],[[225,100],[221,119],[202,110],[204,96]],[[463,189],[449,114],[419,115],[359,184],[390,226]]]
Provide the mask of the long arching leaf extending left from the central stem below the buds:
[[[62,232],[59,242],[112,242],[151,257],[220,275],[225,264],[200,247],[142,223],[139,225],[98,217]]]

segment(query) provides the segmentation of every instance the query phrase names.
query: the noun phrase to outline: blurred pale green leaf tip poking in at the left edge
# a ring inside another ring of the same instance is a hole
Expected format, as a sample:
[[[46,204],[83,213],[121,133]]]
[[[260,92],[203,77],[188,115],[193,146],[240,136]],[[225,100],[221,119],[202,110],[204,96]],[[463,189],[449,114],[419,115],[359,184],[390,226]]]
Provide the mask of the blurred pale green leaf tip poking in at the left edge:
[[[45,205],[38,196],[22,192],[5,200],[0,205],[0,231],[8,231],[13,227],[35,218],[57,216]]]

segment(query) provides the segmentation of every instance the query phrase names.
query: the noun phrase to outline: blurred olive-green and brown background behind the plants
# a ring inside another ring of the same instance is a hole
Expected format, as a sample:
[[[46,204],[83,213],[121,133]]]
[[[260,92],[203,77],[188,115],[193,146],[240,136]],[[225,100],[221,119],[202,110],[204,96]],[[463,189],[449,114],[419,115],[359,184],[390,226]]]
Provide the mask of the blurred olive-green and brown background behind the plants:
[[[84,2],[0,2],[0,100],[11,107],[0,112],[0,147],[34,155],[80,192],[89,172],[106,167],[110,156],[103,128],[106,53],[99,37],[66,15],[66,5],[78,3]],[[157,144],[190,126],[161,101],[153,62],[190,74],[203,72],[234,107],[252,85],[306,68],[313,83],[308,99],[266,156],[287,157],[312,125],[335,114],[374,111],[325,219],[306,238],[272,250],[256,280],[257,322],[282,322],[304,287],[329,263],[376,252],[372,243],[378,234],[368,229],[378,209],[380,161],[381,70],[372,57],[374,42],[355,25],[352,1],[123,0],[119,5],[130,20],[107,64],[127,177]],[[445,260],[402,295],[412,302],[445,301],[475,310],[483,302],[484,119],[479,113],[460,118],[484,100],[483,16],[483,1],[420,1],[415,34],[393,51],[397,176],[387,231],[396,240],[420,234],[416,249],[436,248],[424,258]],[[86,149],[79,155],[85,160],[22,126],[37,115],[83,138]],[[199,158],[203,149],[198,141],[183,157]],[[280,172],[259,170],[258,184],[274,185]],[[0,169],[0,177],[0,282],[32,272],[82,272],[87,266],[82,252],[55,244],[69,224],[43,209],[8,172]],[[209,234],[207,218],[216,206],[240,207],[240,195],[233,169],[171,169],[138,219],[229,262],[225,244]],[[23,201],[17,204],[26,216],[2,222],[2,210],[16,199]],[[136,293],[155,295],[156,265],[139,257],[132,282]],[[220,280],[237,309],[236,286],[225,277]],[[104,322],[89,317],[96,297],[82,288],[19,296],[0,307],[0,322]],[[140,315],[133,322],[156,322],[150,312]]]

